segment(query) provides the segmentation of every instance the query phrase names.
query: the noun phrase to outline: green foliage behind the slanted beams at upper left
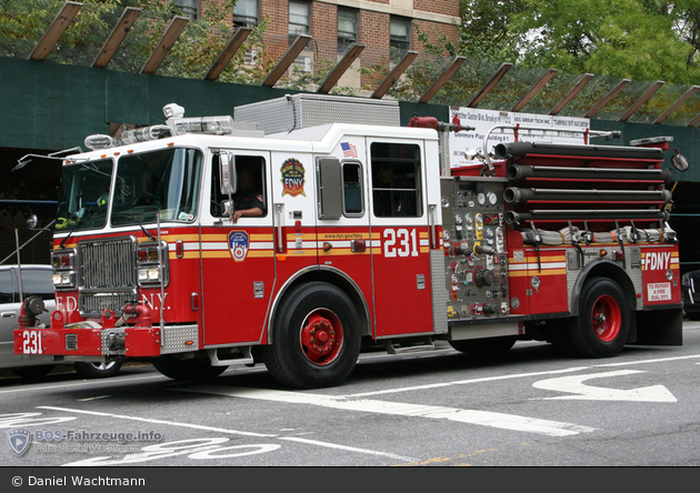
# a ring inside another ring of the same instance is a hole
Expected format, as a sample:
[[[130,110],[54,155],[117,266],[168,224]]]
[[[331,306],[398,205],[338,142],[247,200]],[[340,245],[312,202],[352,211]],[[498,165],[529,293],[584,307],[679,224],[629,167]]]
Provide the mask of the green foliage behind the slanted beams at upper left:
[[[1,0],[0,56],[27,58],[43,36],[62,0]],[[201,79],[233,36],[226,16],[236,0],[208,3],[197,22],[189,22],[159,68],[158,74]],[[182,12],[172,0],[102,0],[84,3],[76,19],[51,50],[48,60],[58,63],[89,66],[117,24],[126,7],[142,10],[133,28],[120,46],[109,68],[138,72],[163,36],[173,16]],[[220,76],[226,82],[260,83],[274,66],[264,56],[262,36],[268,20],[253,29],[247,42]],[[246,64],[247,52],[254,50],[254,63]]]

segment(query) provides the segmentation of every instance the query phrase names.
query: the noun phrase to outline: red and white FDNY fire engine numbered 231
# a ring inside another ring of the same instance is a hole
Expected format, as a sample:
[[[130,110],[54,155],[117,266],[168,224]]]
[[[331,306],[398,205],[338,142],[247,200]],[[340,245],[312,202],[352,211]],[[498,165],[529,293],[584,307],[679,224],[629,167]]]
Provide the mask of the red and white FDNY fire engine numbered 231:
[[[321,388],[370,349],[682,343],[668,138],[538,143],[500,125],[514,142],[484,138],[481,165],[451,169],[460,122],[401,127],[396,101],[164,113],[61,158],[57,309],[49,326],[26,313],[17,353],[151,361],[172,379],[263,362]]]

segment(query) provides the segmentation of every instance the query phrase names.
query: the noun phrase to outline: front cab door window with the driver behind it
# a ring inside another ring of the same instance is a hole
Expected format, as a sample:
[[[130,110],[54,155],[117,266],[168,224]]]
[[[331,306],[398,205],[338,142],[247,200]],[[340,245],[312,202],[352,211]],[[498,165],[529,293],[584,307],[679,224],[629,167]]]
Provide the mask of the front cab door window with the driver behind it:
[[[211,215],[228,218],[231,211],[258,209],[260,211],[252,215],[267,215],[264,159],[260,155],[231,155],[231,163],[234,173],[232,181],[228,178],[224,160],[220,155],[214,157]],[[227,182],[232,183],[233,188]]]

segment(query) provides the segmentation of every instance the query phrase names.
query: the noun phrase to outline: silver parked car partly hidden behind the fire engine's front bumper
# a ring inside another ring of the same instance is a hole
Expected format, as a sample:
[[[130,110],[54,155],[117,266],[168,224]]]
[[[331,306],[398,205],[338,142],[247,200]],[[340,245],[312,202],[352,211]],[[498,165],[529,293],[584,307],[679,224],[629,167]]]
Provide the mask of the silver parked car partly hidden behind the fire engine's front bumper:
[[[24,378],[41,378],[57,364],[72,364],[76,371],[86,379],[116,375],[120,361],[106,362],[64,362],[51,355],[14,354],[13,331],[19,328],[20,271],[22,274],[22,300],[37,295],[43,300],[47,311],[40,315],[40,322],[49,325],[50,312],[56,308],[51,265],[28,264],[0,265],[0,369],[10,369]]]

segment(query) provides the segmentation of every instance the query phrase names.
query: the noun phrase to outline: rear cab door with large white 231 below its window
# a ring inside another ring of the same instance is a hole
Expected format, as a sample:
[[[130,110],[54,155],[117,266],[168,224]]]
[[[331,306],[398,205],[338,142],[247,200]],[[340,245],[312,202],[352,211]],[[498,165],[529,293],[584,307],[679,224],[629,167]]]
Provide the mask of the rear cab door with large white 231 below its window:
[[[432,213],[423,141],[367,139],[374,335],[433,332],[430,270]],[[439,173],[438,170],[434,170]],[[439,174],[436,174],[438,177]]]

